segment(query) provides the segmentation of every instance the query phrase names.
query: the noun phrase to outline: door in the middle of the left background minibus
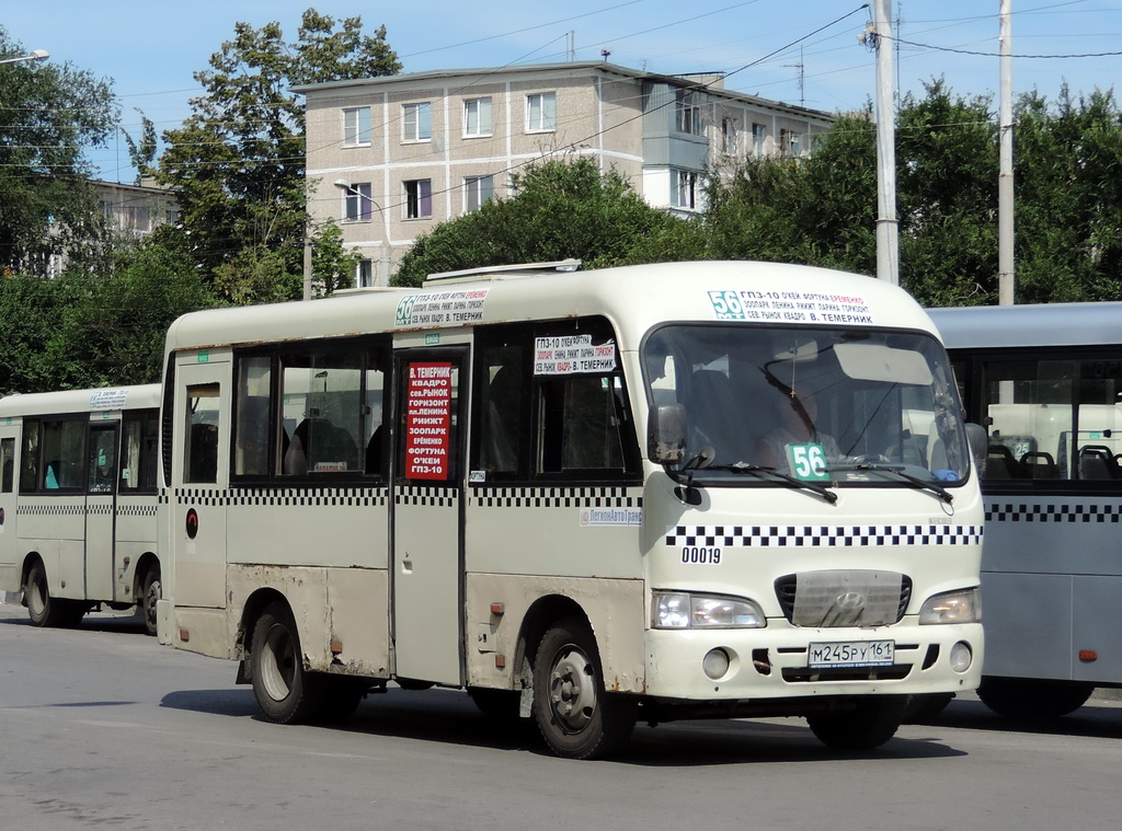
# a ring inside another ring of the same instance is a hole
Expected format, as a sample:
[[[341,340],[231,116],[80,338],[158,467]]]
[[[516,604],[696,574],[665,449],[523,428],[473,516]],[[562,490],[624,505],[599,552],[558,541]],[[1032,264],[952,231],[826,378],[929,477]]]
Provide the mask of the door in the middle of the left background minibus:
[[[116,421],[92,422],[85,445],[85,597],[132,602],[113,594],[119,426]]]

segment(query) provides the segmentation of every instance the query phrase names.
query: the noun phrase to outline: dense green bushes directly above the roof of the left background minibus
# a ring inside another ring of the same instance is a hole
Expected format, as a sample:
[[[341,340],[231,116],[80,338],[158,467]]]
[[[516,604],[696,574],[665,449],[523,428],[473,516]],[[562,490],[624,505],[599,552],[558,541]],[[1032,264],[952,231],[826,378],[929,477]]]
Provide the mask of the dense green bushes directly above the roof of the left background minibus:
[[[194,265],[160,244],[118,249],[111,273],[0,280],[0,394],[159,379],[164,335],[215,304]]]

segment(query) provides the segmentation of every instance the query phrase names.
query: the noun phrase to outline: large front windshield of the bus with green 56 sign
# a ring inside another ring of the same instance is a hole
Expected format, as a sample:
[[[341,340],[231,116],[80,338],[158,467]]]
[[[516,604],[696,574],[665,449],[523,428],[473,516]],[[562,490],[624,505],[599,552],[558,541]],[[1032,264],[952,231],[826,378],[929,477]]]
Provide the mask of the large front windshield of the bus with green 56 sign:
[[[674,469],[695,481],[953,487],[969,470],[950,368],[929,335],[670,325],[643,357],[651,405],[686,409]]]

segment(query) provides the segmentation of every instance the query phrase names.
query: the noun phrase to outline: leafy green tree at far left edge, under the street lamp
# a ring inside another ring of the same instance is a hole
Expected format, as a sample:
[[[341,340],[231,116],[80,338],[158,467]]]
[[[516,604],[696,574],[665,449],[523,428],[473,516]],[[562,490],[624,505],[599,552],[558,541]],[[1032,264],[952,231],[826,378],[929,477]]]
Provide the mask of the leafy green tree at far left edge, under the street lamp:
[[[0,28],[0,55],[25,55]],[[100,236],[86,147],[112,135],[105,81],[57,62],[0,65],[0,268],[46,274],[49,256]]]

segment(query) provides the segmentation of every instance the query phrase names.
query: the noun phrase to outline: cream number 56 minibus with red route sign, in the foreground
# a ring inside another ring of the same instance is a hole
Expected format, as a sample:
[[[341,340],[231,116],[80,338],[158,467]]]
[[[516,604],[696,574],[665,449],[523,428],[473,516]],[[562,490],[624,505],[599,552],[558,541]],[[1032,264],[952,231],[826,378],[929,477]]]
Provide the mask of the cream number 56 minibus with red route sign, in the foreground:
[[[440,685],[571,758],[745,715],[868,748],[974,689],[982,499],[912,298],[576,266],[174,323],[162,641],[273,721]]]

